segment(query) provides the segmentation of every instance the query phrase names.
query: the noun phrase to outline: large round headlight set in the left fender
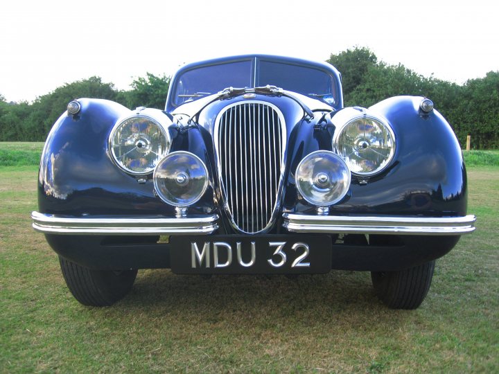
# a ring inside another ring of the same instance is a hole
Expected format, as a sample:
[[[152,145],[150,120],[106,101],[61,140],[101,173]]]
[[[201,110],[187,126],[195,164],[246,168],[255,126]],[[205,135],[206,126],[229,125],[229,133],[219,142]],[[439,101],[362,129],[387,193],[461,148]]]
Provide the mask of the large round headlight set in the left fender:
[[[146,175],[170,148],[166,130],[158,121],[143,115],[123,119],[110,135],[110,151],[116,164],[134,175]]]

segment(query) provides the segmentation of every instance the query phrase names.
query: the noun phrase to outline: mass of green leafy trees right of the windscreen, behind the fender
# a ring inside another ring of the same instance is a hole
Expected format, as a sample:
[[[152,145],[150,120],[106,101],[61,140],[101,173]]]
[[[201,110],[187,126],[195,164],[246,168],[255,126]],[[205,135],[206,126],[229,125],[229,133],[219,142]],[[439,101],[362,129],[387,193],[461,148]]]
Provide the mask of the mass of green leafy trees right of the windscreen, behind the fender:
[[[399,95],[426,96],[447,118],[462,145],[471,134],[475,148],[499,147],[498,71],[459,86],[432,76],[425,78],[402,64],[378,62],[367,48],[331,55],[328,62],[342,73],[346,106],[369,107]]]

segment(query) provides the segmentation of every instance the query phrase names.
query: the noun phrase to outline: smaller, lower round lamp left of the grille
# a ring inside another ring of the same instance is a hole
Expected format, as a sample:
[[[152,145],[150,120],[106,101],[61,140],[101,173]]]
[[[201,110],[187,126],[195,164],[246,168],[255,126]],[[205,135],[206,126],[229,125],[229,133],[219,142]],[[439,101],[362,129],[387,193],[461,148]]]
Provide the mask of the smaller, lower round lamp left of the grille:
[[[154,173],[159,197],[173,206],[197,202],[208,187],[208,170],[203,161],[190,152],[178,151],[162,159]]]

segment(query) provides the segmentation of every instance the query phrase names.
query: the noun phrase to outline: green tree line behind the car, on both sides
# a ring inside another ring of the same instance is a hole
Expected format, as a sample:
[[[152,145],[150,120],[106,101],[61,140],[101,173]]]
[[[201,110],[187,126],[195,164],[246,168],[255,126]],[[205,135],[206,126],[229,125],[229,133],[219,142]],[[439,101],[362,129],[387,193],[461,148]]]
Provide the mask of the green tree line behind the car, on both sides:
[[[345,106],[369,107],[398,95],[426,96],[435,103],[459,139],[472,148],[499,148],[499,71],[459,85],[423,77],[402,64],[378,61],[368,48],[353,48],[329,60],[342,73]],[[130,109],[164,108],[170,78],[147,73],[121,91],[99,77],[79,80],[38,97],[33,103],[7,103],[0,95],[0,141],[44,141],[53,123],[74,98],[105,98]]]

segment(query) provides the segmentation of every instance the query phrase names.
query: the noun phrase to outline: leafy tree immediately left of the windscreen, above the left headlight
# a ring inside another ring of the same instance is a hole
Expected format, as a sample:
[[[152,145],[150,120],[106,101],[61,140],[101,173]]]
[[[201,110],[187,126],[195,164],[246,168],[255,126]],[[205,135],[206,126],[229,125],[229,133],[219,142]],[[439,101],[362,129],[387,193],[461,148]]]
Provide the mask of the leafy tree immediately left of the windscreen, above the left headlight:
[[[123,91],[119,95],[119,102],[126,107],[134,109],[136,107],[150,107],[164,109],[166,94],[170,87],[170,77],[166,75],[156,76],[146,73],[146,78],[135,79],[130,86],[130,91]]]

